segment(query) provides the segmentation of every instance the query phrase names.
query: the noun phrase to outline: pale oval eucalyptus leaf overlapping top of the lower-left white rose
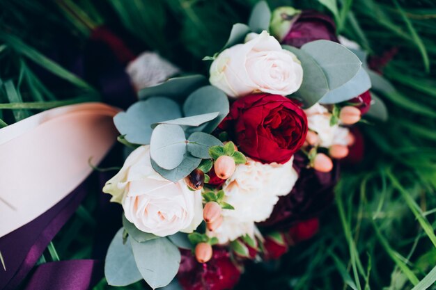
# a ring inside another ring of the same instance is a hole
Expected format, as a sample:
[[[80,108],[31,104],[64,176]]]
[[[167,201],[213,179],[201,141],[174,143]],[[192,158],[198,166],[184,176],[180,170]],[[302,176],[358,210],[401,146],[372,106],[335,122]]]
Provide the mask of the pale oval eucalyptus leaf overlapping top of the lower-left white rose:
[[[151,134],[150,156],[158,166],[171,170],[180,165],[186,152],[185,131],[172,124],[159,124]]]

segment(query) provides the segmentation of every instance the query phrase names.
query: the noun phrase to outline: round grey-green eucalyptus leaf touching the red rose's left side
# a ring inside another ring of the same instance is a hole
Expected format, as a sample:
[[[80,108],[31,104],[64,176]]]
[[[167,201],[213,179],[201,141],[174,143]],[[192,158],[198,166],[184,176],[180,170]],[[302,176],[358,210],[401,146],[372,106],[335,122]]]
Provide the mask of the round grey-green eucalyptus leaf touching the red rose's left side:
[[[215,86],[199,88],[192,92],[187,97],[185,104],[183,104],[183,112],[187,117],[219,112],[217,118],[196,128],[196,131],[204,131],[206,133],[210,133],[217,128],[218,124],[226,118],[228,110],[229,104],[226,94]]]

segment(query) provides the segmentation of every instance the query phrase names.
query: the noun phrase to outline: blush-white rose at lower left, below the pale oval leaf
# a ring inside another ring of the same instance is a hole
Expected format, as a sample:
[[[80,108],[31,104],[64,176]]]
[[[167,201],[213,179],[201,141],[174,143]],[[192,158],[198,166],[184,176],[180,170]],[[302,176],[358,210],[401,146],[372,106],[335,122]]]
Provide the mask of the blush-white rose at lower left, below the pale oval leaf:
[[[155,172],[148,145],[127,157],[103,191],[113,195],[111,201],[123,204],[127,220],[156,236],[192,232],[203,219],[201,191],[190,191],[183,180],[173,183]]]

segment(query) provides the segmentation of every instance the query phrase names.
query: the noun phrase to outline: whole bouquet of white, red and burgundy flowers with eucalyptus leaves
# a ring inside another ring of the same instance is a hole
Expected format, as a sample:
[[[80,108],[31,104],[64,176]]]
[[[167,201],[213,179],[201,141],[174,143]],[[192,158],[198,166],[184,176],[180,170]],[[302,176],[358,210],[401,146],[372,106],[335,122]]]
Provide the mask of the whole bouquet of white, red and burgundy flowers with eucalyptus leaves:
[[[358,159],[350,127],[385,114],[369,92],[380,76],[315,11],[260,2],[204,61],[208,79],[143,88],[114,118],[129,155],[103,189],[124,210],[111,285],[233,288],[245,263],[316,234],[340,163]]]

